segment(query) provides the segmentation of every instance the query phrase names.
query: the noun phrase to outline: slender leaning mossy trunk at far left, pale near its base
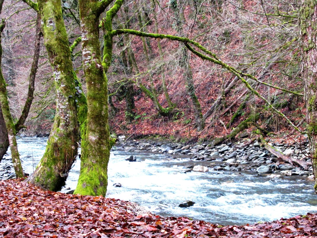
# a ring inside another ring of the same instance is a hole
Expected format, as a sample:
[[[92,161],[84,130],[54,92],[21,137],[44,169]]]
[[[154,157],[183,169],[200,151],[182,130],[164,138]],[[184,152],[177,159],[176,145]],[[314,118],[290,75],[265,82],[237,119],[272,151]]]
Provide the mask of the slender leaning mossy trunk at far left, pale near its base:
[[[2,3],[0,3],[2,9]],[[1,11],[0,11],[1,12]],[[1,46],[1,33],[4,29],[5,23],[4,20],[0,23],[0,105],[3,114],[3,119],[7,129],[7,135],[9,138],[11,157],[14,170],[16,172],[17,178],[23,178],[23,169],[20,161],[19,151],[16,143],[16,131],[14,128],[14,122],[10,113],[8,95],[6,89],[6,82],[4,80],[2,70],[1,70],[1,59],[2,59],[2,46]],[[5,133],[4,133],[5,134]]]

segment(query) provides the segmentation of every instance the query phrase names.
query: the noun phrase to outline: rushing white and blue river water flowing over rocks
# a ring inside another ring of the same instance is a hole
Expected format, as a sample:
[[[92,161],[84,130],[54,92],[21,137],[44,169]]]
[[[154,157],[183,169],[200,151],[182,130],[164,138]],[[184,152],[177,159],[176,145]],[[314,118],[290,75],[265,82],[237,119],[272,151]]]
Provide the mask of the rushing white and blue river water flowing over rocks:
[[[45,152],[46,142],[47,138],[18,138],[25,172],[34,171]],[[130,155],[136,155],[139,161],[126,161]],[[107,197],[136,202],[162,216],[187,216],[223,225],[273,221],[317,212],[313,183],[305,177],[269,179],[252,171],[184,173],[187,166],[204,165],[204,162],[170,156],[126,152],[119,148],[111,151]],[[213,162],[221,163],[220,159]],[[79,170],[77,157],[62,192],[76,187]],[[114,187],[114,183],[121,183],[122,187]],[[178,207],[185,200],[196,203],[189,208]]]

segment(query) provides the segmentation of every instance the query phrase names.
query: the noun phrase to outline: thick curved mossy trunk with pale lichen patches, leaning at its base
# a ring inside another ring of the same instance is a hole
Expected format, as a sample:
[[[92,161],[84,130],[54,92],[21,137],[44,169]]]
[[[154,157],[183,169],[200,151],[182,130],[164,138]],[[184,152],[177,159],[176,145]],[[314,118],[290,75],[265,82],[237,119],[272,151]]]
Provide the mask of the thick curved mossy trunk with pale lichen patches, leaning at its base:
[[[42,17],[44,44],[53,69],[56,89],[56,114],[45,153],[36,170],[27,179],[44,189],[58,191],[65,185],[68,172],[77,156],[79,139],[76,75],[71,61],[68,36],[62,17],[61,1],[26,1]],[[35,4],[35,5],[34,5]]]

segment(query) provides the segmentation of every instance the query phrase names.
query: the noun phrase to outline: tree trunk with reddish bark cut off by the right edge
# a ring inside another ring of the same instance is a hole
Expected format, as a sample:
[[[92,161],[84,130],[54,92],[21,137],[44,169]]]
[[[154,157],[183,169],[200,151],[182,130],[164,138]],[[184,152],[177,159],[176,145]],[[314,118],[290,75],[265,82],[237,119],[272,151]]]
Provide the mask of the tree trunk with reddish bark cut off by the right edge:
[[[304,96],[307,109],[307,131],[317,193],[317,3],[300,1],[299,35],[301,46],[301,70],[304,80]]]

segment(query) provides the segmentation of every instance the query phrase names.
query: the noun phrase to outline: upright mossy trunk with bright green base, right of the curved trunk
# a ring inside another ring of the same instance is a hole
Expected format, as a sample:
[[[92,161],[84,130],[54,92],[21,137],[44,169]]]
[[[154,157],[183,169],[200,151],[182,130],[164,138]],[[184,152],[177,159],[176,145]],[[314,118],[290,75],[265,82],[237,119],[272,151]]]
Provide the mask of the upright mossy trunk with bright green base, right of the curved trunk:
[[[123,0],[117,0],[103,20],[104,58],[101,61],[99,17],[109,3],[111,1],[79,1],[88,112],[87,126],[85,131],[82,131],[81,169],[74,194],[105,196],[107,192],[107,167],[111,145],[106,72],[112,58],[112,20]]]

